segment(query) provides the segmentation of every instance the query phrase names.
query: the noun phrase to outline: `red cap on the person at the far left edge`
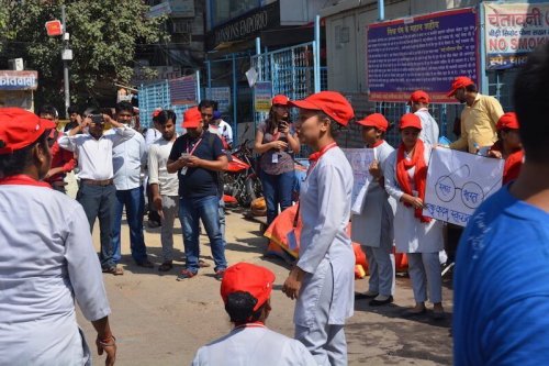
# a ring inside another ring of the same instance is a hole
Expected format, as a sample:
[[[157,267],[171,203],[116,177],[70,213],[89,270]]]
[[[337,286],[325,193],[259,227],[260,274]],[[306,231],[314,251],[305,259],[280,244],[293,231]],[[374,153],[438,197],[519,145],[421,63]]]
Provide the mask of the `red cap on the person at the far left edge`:
[[[55,123],[21,108],[0,108],[0,154],[11,154],[34,143]]]

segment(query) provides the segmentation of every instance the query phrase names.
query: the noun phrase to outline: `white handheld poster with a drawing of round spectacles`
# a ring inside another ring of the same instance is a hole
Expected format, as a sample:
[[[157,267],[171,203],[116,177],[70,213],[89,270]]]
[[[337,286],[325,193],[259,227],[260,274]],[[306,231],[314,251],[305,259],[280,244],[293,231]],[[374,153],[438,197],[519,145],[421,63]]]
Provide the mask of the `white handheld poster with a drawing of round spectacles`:
[[[474,210],[502,187],[503,159],[435,148],[427,170],[423,214],[467,225]]]

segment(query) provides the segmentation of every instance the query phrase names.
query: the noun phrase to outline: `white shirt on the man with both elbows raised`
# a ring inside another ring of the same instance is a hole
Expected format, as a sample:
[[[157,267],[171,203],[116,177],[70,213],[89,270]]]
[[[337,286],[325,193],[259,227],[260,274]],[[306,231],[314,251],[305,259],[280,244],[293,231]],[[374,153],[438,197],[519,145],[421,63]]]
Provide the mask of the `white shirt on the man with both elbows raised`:
[[[60,147],[77,154],[80,179],[105,180],[113,177],[113,146],[131,138],[135,133],[124,126],[114,129],[114,133],[103,134],[99,140],[90,134],[63,135],[58,143]]]

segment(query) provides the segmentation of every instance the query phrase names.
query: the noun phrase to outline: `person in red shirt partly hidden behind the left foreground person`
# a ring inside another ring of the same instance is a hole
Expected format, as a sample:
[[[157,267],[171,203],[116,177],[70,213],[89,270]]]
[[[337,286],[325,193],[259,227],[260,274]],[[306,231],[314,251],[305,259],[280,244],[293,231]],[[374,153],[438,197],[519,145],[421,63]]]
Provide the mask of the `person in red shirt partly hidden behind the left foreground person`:
[[[58,127],[59,114],[55,107],[43,106],[40,110],[40,118],[53,121]],[[52,166],[44,181],[48,182],[53,189],[65,193],[65,175],[76,167],[76,159],[74,153],[59,147],[57,140],[63,136],[63,132],[58,131],[57,127],[52,130],[47,136],[47,144],[52,154]]]

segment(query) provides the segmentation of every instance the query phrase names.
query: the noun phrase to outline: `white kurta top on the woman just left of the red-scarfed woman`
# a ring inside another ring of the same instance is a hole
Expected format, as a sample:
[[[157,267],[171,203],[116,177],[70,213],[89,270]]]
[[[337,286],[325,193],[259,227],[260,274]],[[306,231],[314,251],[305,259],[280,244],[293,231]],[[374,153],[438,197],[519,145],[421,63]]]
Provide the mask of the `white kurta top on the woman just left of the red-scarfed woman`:
[[[374,147],[376,156],[383,173],[383,166],[394,148],[384,141]],[[379,247],[381,243],[382,221],[393,221],[396,202],[385,189],[373,180],[368,187],[365,203],[360,214],[352,215],[351,239],[361,245]],[[392,228],[392,225],[390,225]],[[392,229],[391,229],[392,230]]]

